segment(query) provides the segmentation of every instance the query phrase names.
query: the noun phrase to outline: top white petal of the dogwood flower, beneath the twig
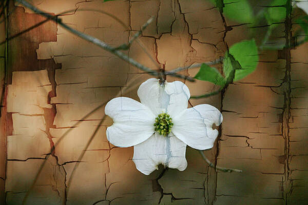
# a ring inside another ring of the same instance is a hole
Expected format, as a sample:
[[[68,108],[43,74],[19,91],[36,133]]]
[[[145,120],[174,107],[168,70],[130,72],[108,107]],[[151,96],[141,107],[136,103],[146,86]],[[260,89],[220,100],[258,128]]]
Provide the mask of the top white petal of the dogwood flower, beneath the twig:
[[[166,82],[164,88],[159,79],[150,78],[141,84],[138,96],[155,115],[167,112],[173,117],[187,108],[190,93],[181,81]]]

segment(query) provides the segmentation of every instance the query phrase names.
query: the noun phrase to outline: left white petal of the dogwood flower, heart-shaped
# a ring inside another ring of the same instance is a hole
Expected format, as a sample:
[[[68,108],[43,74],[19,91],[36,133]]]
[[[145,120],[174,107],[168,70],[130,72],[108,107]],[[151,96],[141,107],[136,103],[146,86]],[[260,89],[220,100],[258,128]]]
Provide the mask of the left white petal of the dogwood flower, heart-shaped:
[[[113,120],[107,128],[107,139],[117,147],[137,145],[154,133],[155,115],[136,100],[117,97],[105,107],[106,115]]]

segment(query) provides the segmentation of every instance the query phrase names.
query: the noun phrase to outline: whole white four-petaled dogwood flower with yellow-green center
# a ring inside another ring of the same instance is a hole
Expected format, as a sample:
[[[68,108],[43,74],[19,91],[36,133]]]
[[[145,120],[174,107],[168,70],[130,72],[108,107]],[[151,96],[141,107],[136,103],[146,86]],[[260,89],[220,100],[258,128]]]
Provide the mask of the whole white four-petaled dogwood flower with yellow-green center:
[[[105,113],[113,119],[107,139],[117,147],[134,146],[133,161],[143,174],[158,165],[183,171],[186,145],[206,150],[213,147],[222,115],[210,105],[187,109],[189,90],[181,81],[159,83],[150,78],[138,89],[141,103],[128,97],[110,100]]]

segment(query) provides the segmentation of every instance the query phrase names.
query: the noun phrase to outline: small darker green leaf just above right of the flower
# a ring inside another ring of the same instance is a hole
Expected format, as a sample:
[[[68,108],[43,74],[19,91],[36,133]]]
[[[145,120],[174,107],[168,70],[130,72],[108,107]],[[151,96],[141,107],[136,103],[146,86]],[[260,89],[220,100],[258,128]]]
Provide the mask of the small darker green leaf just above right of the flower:
[[[206,64],[202,64],[195,78],[198,80],[209,81],[219,86],[225,85],[225,79],[222,77],[219,71],[216,68],[210,67]]]

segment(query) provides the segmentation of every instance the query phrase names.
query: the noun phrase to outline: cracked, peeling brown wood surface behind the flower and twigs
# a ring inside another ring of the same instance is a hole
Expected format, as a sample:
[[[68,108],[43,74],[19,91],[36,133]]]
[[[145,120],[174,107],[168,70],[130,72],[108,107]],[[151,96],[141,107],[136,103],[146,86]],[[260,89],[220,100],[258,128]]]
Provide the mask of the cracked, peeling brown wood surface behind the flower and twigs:
[[[264,23],[249,28],[230,21],[204,0],[31,3],[53,14],[74,10],[61,16],[65,24],[112,46],[126,43],[154,16],[140,40],[166,70],[217,59],[234,43],[249,38],[252,30],[257,31],[257,40],[266,31]],[[255,10],[269,4],[251,3]],[[129,29],[107,15],[82,9],[114,14]],[[12,36],[45,19],[13,3],[9,11],[8,28],[1,24],[1,40],[6,31]],[[296,40],[293,23],[287,19],[279,24],[271,42]],[[52,22],[10,40],[7,55],[5,45],[0,47],[2,85],[4,70],[8,71],[8,85],[0,90],[1,202],[22,204],[47,160],[27,204],[308,204],[307,47],[261,52],[253,74],[221,95],[190,100],[193,106],[216,106],[224,117],[219,138],[206,156],[243,173],[216,172],[197,151],[187,148],[185,171],[160,167],[143,175],[131,160],[133,148],[117,148],[107,141],[106,127],[112,123],[108,118],[85,151],[68,191],[72,169],[104,108],[74,124],[119,92],[138,100],[138,86],[151,76]],[[125,53],[155,68],[136,42]],[[202,81],[185,83],[192,95],[218,89]],[[46,159],[67,130],[71,132]]]

